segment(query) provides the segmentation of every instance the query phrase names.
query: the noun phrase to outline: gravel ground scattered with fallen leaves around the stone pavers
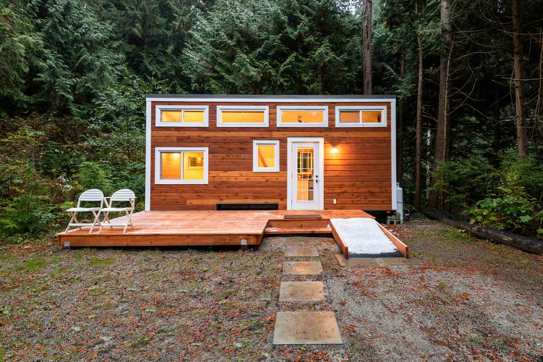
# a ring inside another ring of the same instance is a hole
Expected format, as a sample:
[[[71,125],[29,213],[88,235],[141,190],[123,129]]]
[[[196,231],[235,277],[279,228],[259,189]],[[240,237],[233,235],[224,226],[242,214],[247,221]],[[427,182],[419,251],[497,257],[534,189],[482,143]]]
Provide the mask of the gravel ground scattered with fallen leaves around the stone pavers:
[[[0,361],[543,362],[543,258],[435,221],[387,226],[423,266],[339,266],[281,276],[285,238],[257,250],[91,248],[54,240],[0,251]],[[281,281],[327,299],[279,303]],[[333,310],[343,345],[272,346],[281,310]]]

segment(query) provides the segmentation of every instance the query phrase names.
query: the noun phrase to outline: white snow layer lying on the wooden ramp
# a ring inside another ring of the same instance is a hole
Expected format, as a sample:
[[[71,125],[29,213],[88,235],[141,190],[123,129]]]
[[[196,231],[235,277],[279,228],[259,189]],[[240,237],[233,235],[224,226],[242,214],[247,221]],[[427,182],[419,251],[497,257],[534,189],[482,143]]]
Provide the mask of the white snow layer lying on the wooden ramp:
[[[403,256],[374,219],[330,219],[330,222],[347,245],[349,257]]]

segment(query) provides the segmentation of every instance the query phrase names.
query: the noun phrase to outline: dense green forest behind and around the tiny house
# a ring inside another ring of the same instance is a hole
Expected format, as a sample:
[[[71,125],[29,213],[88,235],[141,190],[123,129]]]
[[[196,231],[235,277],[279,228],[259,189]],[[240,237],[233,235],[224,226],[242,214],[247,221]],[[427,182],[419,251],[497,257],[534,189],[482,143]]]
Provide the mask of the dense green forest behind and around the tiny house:
[[[144,195],[145,94],[395,94],[405,209],[543,238],[538,0],[0,0],[0,239]],[[137,211],[143,208],[142,202]]]

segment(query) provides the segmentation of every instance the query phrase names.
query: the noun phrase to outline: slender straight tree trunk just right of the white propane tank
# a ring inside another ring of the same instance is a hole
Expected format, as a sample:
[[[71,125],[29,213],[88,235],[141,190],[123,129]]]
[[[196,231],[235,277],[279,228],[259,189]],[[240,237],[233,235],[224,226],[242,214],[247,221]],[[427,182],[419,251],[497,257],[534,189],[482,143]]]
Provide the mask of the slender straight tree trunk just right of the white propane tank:
[[[415,1],[415,12],[418,15],[418,0]],[[417,31],[416,42],[419,45],[419,87],[416,92],[416,154],[415,154],[415,208],[420,211],[421,208],[421,158],[422,158],[422,47],[420,44],[420,34]]]

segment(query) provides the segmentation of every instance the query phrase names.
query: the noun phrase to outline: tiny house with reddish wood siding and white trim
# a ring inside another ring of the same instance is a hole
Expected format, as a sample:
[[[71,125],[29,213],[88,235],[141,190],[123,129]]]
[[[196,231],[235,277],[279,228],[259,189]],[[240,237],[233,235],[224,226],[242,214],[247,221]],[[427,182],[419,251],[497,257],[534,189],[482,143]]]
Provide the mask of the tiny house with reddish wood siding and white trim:
[[[396,209],[395,96],[146,103],[146,211]]]

